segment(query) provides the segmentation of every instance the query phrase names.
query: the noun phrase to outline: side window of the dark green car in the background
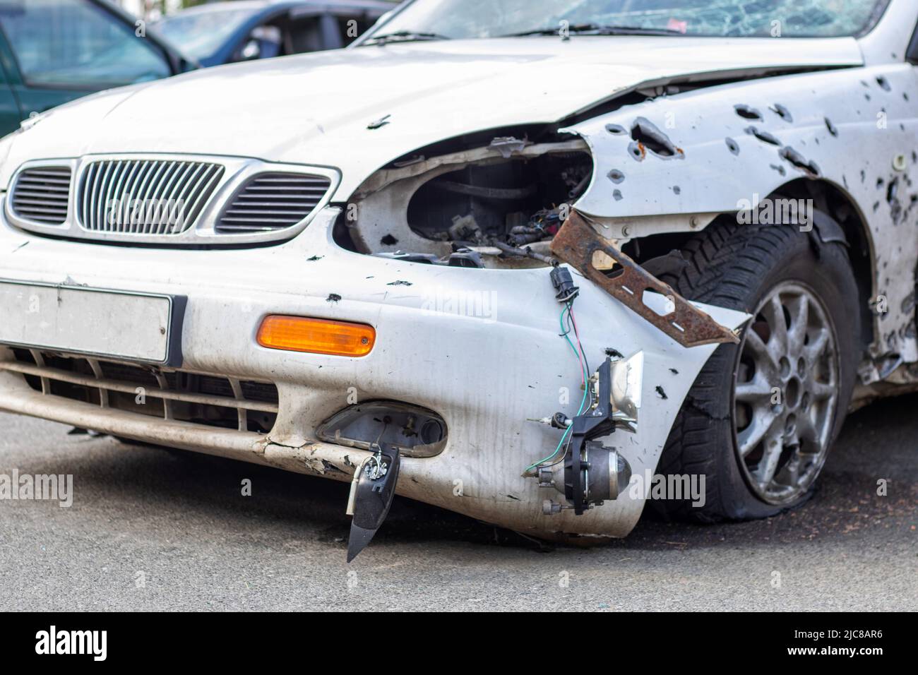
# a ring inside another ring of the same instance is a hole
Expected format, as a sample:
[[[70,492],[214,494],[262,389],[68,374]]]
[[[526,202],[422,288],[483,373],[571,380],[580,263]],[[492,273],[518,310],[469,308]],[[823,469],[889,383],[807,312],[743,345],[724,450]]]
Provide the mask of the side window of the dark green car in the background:
[[[104,87],[172,74],[134,26],[89,0],[0,0],[0,27],[28,84]]]

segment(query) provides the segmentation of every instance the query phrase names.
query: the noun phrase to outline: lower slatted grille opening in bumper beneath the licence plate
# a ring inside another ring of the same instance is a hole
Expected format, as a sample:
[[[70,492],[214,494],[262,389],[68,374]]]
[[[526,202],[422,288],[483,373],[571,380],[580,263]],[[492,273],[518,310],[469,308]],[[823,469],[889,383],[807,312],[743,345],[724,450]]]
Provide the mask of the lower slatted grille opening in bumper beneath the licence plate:
[[[0,370],[20,373],[31,388],[49,396],[241,432],[268,433],[277,419],[277,388],[270,382],[38,350],[14,349],[13,354],[15,360],[0,362]]]

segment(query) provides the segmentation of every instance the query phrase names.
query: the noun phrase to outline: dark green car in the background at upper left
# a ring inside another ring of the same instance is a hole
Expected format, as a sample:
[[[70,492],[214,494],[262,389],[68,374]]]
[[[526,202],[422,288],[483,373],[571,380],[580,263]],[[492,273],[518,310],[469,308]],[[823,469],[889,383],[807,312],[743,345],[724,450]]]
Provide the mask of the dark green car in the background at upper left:
[[[74,98],[195,67],[146,28],[107,0],[0,0],[0,136]]]

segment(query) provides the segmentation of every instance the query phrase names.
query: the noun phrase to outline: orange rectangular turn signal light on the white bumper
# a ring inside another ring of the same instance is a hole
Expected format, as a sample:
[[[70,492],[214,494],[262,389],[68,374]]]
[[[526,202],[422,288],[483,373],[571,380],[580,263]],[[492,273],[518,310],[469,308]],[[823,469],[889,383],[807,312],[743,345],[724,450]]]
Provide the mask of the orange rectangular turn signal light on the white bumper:
[[[364,323],[267,316],[258,329],[258,343],[268,349],[334,356],[365,356],[373,350],[376,331]]]

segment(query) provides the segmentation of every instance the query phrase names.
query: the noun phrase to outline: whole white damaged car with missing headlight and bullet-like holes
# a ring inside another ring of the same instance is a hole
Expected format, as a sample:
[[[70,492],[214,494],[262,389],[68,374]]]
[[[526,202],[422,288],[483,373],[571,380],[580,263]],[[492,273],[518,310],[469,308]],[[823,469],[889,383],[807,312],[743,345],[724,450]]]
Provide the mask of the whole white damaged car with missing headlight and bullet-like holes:
[[[415,0],[31,118],[0,409],[349,481],[351,557],[394,493],[559,539],[800,504],[918,384],[916,22]]]

